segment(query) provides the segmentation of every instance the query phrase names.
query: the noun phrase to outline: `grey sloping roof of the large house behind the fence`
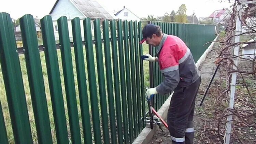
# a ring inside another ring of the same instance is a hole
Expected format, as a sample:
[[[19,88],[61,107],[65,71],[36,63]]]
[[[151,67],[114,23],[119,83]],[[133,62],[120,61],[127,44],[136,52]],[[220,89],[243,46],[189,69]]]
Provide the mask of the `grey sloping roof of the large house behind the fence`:
[[[57,0],[49,14],[51,14],[57,5]],[[96,0],[69,0],[86,17],[93,18],[113,18]]]

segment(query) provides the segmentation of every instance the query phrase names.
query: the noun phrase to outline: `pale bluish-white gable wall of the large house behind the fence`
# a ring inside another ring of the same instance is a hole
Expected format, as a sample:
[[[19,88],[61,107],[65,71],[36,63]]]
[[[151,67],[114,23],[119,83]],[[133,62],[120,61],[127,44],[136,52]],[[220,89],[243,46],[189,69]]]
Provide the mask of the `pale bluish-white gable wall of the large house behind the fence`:
[[[85,18],[85,16],[69,0],[59,0],[51,13],[52,19],[57,20],[63,15],[66,16],[66,14],[69,14],[69,19],[75,17]]]

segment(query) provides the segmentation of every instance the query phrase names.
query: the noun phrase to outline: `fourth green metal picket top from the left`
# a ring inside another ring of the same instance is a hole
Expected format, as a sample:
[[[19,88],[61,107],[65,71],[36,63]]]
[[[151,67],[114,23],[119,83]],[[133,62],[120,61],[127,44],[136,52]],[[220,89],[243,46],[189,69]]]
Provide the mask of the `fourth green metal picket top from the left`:
[[[69,44],[68,20],[66,16],[58,19],[61,61],[68,105],[69,126],[72,143],[81,143],[80,126],[75,93],[74,72]]]

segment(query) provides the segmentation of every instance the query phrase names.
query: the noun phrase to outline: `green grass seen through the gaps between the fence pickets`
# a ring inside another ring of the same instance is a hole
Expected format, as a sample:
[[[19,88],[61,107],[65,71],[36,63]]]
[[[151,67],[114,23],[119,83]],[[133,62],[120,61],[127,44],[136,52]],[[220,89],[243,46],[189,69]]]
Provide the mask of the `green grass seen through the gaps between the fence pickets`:
[[[39,40],[39,45],[40,44],[42,44],[42,42]],[[75,89],[76,89],[77,108],[78,108],[78,112],[79,112],[80,131],[81,131],[81,136],[82,136],[82,141],[83,141],[82,119],[81,119],[81,110],[80,110],[80,101],[79,101],[79,92],[78,92],[78,84],[77,84],[77,76],[76,76],[76,66],[75,66],[75,56],[74,56],[74,48],[73,47],[71,48],[71,53],[72,53],[72,62],[73,62],[73,70],[74,70],[74,80],[75,80]],[[145,53],[148,53],[148,46],[146,44],[143,44],[143,54],[145,54]],[[65,85],[64,85],[64,77],[63,77],[63,69],[62,69],[62,63],[61,63],[60,49],[57,50],[57,55],[58,55],[58,61],[59,61],[59,70],[60,70],[60,77],[61,77],[63,100],[64,100],[64,105],[65,105],[65,113],[66,113],[66,117],[67,117],[66,121],[67,121],[67,126],[68,126],[69,139],[71,141],[70,129],[69,129],[69,120],[68,120],[67,101],[66,101],[66,94],[65,94]],[[50,124],[51,124],[51,129],[52,129],[53,142],[57,143],[56,132],[55,132],[55,128],[54,128],[54,118],[53,118],[52,102],[51,102],[51,96],[50,96],[50,91],[49,91],[49,84],[48,84],[48,78],[47,78],[47,69],[46,69],[44,52],[40,52],[40,57],[41,57],[41,66],[42,66],[42,72],[43,72],[43,78],[44,78],[44,86],[45,86],[45,93],[46,93],[46,100],[47,100],[47,106],[48,106],[49,119],[50,119]],[[103,49],[103,57],[104,57],[104,49]],[[88,78],[88,75],[87,75],[87,64],[86,64],[86,55],[85,55],[85,47],[84,47],[84,59],[85,59],[84,63],[85,63],[85,68],[86,68],[86,77]],[[32,101],[31,101],[31,96],[30,96],[29,82],[28,82],[28,75],[27,75],[27,69],[26,69],[26,62],[25,62],[24,54],[19,55],[19,60],[20,60],[20,67],[21,67],[21,71],[22,71],[22,77],[23,77],[24,90],[25,90],[26,102],[27,102],[27,107],[28,107],[28,114],[29,114],[29,119],[30,119],[32,138],[33,138],[33,142],[37,143],[37,132],[36,132],[36,128],[35,128],[35,121],[34,121],[34,115],[33,115],[33,109],[32,109]],[[96,81],[97,81],[97,85],[98,85],[95,46],[94,46],[94,60],[95,60]],[[103,59],[103,60],[105,60],[105,59]],[[112,54],[111,54],[111,60],[112,60]],[[144,63],[144,87],[149,87],[149,62],[144,61],[143,63]],[[0,70],[1,70],[1,67],[0,67]],[[112,71],[113,71],[113,62],[112,62]],[[119,68],[118,68],[118,71],[120,72]],[[106,86],[106,71],[105,71],[105,67],[104,67],[104,74],[105,74],[105,86]],[[0,72],[0,77],[3,77],[2,72]],[[88,89],[87,92],[88,92],[88,100],[89,100],[89,108],[90,108],[90,98],[89,98],[90,93],[89,93],[88,80],[87,80],[87,89]],[[108,101],[108,98],[106,98],[106,100]],[[6,99],[6,93],[5,93],[3,78],[0,79],[0,101],[1,101],[1,106],[2,106],[2,110],[3,110],[3,115],[4,115],[5,126],[6,126],[7,135],[8,135],[8,140],[9,140],[9,143],[14,143],[14,136],[13,136],[12,126],[11,126],[11,119],[10,119],[10,113],[9,113],[9,108],[8,108],[8,102],[7,102],[7,99]],[[99,91],[98,91],[98,104],[99,104],[99,112],[100,112]],[[92,124],[91,124],[91,126],[92,126]]]

